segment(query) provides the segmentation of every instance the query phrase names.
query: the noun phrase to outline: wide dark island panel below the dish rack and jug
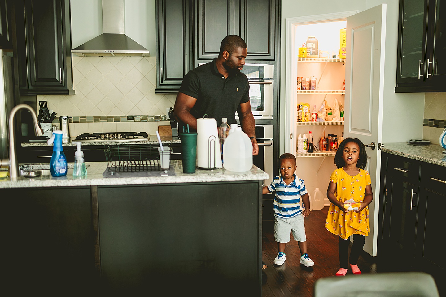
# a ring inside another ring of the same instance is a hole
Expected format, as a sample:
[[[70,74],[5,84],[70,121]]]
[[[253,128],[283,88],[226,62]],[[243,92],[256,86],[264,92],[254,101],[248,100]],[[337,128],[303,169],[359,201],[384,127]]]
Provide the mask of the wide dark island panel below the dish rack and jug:
[[[258,181],[98,187],[98,197],[105,291],[261,296]]]

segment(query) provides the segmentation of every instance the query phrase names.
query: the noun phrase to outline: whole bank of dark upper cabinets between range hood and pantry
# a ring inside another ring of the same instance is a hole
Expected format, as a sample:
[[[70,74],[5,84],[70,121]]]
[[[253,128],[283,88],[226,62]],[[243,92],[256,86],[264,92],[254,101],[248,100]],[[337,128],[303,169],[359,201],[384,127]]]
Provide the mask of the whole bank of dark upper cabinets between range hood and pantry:
[[[248,63],[277,61],[279,1],[157,0],[155,93],[177,93],[190,69],[219,55],[227,35],[246,41]]]

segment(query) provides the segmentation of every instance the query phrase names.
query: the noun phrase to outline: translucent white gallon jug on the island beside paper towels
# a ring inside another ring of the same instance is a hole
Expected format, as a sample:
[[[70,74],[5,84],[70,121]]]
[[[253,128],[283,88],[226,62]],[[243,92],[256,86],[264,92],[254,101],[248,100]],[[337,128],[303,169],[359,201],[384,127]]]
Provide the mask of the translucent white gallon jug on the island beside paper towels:
[[[251,139],[240,127],[231,130],[233,132],[223,144],[223,167],[235,172],[249,171],[252,167]]]

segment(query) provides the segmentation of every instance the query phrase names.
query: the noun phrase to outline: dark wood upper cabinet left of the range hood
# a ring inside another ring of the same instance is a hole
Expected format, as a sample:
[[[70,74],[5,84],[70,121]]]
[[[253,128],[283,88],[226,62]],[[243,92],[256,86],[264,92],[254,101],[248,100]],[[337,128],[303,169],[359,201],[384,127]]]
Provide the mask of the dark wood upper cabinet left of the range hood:
[[[70,1],[16,3],[20,93],[74,95]]]

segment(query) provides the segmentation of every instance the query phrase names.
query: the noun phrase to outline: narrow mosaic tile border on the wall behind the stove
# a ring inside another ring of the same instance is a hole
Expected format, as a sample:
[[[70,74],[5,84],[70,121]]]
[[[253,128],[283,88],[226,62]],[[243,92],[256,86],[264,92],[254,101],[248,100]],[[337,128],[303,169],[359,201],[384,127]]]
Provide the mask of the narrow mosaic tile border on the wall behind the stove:
[[[55,118],[53,123],[58,123]],[[166,115],[94,115],[94,116],[72,116],[68,118],[70,123],[107,123],[107,122],[169,122]]]

